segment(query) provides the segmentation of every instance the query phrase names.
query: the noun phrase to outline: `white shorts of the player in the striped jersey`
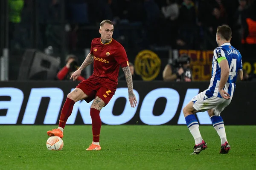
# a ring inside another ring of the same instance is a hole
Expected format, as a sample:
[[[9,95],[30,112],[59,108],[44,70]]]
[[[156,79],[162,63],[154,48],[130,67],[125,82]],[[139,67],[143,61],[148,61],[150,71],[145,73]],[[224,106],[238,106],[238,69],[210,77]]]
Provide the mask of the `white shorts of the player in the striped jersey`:
[[[215,116],[220,116],[221,112],[226,108],[231,100],[222,99],[217,96],[207,97],[205,95],[206,90],[196,95],[191,102],[194,103],[193,108],[196,111],[208,111],[209,109],[214,109]]]

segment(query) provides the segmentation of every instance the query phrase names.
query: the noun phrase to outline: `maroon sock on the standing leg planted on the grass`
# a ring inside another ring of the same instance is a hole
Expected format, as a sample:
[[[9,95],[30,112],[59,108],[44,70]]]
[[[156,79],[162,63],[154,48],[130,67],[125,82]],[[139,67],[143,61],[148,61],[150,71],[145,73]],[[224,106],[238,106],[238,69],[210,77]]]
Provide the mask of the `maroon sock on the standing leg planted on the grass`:
[[[99,142],[99,133],[101,128],[101,119],[99,116],[99,112],[95,108],[90,109],[90,116],[92,118],[93,125],[93,142]]]

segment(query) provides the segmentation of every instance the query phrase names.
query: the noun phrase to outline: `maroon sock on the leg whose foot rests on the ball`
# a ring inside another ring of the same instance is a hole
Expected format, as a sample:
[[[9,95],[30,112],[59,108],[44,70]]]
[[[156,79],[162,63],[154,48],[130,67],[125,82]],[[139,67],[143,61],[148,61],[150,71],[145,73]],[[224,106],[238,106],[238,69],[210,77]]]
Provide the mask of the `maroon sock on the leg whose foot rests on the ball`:
[[[61,117],[59,120],[59,127],[64,128],[67,122],[68,117],[71,115],[73,106],[75,104],[75,101],[72,99],[67,98],[66,102],[64,103],[64,106],[61,110]]]

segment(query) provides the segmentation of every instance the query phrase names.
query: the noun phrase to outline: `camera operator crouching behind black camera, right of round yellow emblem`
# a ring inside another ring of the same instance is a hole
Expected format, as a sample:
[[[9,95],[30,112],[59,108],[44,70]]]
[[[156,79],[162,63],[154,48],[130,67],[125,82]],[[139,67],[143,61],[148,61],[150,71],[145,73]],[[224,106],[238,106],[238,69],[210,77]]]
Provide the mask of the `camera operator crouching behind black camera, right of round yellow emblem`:
[[[163,70],[163,80],[165,82],[191,82],[192,71],[189,68],[190,57],[183,55],[174,62],[170,62]]]

